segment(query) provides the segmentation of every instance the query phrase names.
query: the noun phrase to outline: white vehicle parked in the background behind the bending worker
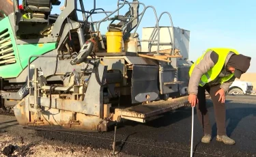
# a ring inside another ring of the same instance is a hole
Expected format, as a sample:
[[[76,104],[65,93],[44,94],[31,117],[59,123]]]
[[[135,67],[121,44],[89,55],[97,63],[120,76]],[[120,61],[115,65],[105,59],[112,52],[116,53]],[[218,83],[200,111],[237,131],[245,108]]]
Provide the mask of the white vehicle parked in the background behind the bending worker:
[[[236,80],[229,87],[227,94],[255,94],[255,91],[253,91],[253,84],[251,82]]]

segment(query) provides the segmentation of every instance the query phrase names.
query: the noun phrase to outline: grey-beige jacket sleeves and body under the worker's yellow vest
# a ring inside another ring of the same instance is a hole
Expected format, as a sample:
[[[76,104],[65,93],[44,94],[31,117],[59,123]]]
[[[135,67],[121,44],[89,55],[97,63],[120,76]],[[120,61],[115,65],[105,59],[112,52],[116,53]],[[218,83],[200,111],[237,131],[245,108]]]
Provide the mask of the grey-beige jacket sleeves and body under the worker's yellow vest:
[[[229,61],[229,58],[231,55],[234,53],[229,53],[227,55],[226,61],[225,61],[225,66],[227,66],[227,62]],[[195,66],[193,69],[193,72],[191,73],[189,84],[188,84],[188,94],[197,94],[198,92],[198,86],[199,86],[199,81],[201,79],[201,76],[208,72],[218,61],[218,54],[215,53],[214,51],[208,51],[205,53],[203,56],[203,59],[200,61],[199,64]],[[218,74],[218,76],[211,81],[210,83],[207,83],[206,85],[217,85],[221,82],[222,77],[227,76],[231,74],[231,72],[228,72],[223,68],[223,70]],[[229,86],[235,81],[236,77],[233,76],[229,81],[222,83],[221,88],[224,89],[224,91],[229,90]]]

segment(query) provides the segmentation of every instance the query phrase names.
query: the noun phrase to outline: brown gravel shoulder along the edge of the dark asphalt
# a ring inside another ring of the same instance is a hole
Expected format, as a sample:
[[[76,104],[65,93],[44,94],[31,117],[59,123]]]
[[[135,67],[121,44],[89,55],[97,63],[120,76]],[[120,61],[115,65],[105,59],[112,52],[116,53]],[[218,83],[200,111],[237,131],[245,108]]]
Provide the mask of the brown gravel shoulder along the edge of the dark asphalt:
[[[17,126],[15,117],[0,115],[0,156],[113,156],[113,150],[46,139],[38,131]],[[115,156],[128,156],[119,153]],[[130,157],[130,156],[129,156]]]

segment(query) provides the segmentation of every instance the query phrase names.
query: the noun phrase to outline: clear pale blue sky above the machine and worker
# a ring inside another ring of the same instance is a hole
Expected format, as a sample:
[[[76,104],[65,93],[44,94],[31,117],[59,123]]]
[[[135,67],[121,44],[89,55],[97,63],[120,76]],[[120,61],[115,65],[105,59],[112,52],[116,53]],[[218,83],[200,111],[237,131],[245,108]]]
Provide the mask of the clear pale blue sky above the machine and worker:
[[[131,1],[131,0],[129,0]],[[78,1],[79,2],[79,1]],[[189,59],[197,57],[209,47],[235,48],[239,53],[252,57],[248,72],[256,72],[256,1],[253,0],[141,0],[141,3],[152,5],[158,16],[161,12],[171,14],[174,27],[190,31]],[[93,0],[84,0],[85,10],[93,8]],[[63,0],[61,0],[61,5]],[[59,14],[60,6],[54,7],[52,14]],[[117,0],[96,0],[96,8],[113,11],[117,8]],[[140,12],[143,7],[140,8]],[[128,6],[120,10],[125,14]],[[115,14],[114,14],[115,15]],[[104,18],[104,14],[93,15],[94,20]],[[83,18],[79,14],[79,18]],[[154,11],[149,8],[141,20],[137,33],[142,27],[152,27],[156,23]],[[100,25],[100,31],[106,32],[109,22]],[[171,26],[169,17],[162,16],[160,26]]]

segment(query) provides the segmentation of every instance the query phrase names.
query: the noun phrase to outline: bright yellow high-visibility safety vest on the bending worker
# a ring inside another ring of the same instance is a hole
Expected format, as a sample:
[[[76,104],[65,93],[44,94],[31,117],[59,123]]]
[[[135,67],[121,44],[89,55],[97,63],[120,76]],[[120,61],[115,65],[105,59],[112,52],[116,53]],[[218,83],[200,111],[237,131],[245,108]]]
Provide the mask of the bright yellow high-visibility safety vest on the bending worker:
[[[203,74],[203,76],[201,76],[201,80],[199,82],[199,85],[201,87],[203,87],[203,85],[205,85],[206,83],[210,83],[210,81],[213,81],[218,76],[218,74],[220,74],[221,70],[223,69],[223,66],[225,65],[225,60],[229,52],[232,51],[237,55],[239,54],[238,51],[232,48],[208,48],[208,50],[205,51],[205,53],[207,53],[208,51],[214,51],[215,53],[217,53],[218,61],[210,70],[208,70],[208,72],[206,72],[205,74]],[[195,66],[198,63],[200,63],[200,61],[203,59],[203,56],[205,55],[205,53],[203,53],[203,55],[199,57],[199,59],[197,59],[197,61],[193,63],[193,65],[190,67],[189,76],[191,76],[191,73],[193,72],[193,69],[195,68]],[[229,74],[228,76],[221,78],[221,83],[229,81],[229,79],[232,78],[232,76],[233,74]]]

